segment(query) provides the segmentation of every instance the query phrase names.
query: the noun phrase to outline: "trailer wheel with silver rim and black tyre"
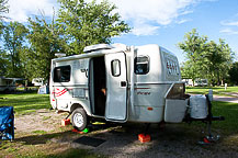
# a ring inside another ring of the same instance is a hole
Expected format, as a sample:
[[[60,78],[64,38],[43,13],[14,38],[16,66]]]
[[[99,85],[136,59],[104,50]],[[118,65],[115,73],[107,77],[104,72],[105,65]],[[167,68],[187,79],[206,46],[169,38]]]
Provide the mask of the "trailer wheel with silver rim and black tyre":
[[[71,121],[75,128],[83,131],[88,124],[88,116],[86,114],[86,111],[81,108],[77,108],[72,112]]]

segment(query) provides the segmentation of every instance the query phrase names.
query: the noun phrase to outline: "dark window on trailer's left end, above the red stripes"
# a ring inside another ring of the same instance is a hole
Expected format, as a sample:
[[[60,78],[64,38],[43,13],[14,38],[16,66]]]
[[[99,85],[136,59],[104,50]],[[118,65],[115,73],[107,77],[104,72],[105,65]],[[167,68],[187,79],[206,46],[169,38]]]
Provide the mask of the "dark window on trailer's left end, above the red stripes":
[[[69,82],[70,81],[70,66],[60,66],[54,69],[54,82]]]

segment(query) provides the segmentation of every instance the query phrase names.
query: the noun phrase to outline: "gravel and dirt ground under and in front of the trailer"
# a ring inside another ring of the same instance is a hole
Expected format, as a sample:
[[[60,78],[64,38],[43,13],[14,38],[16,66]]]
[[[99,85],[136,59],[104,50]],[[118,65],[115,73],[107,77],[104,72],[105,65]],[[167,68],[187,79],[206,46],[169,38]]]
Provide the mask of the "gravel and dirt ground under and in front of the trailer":
[[[222,135],[218,143],[202,146],[197,144],[203,136],[201,128],[190,128],[183,124],[168,124],[165,128],[152,125],[148,132],[151,142],[141,144],[137,136],[144,131],[144,124],[98,124],[91,126],[93,129],[88,134],[77,134],[71,132],[71,125],[60,127],[60,121],[66,115],[67,113],[57,114],[54,111],[39,110],[36,113],[15,116],[15,143],[21,143],[18,148],[23,150],[30,145],[31,148],[35,147],[35,150],[50,150],[50,153],[79,148],[90,150],[95,155],[122,158],[238,157],[238,134]],[[76,143],[75,140],[81,136],[105,142],[98,147]]]

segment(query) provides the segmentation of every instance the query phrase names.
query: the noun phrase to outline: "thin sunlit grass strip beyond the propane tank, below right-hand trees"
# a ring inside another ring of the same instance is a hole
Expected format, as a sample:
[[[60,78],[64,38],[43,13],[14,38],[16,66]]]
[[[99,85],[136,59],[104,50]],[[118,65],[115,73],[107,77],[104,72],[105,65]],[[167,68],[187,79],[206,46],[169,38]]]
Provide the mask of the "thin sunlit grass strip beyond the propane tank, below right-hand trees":
[[[213,94],[216,95],[229,95],[227,93],[235,92],[238,93],[238,87],[227,87],[225,90],[224,87],[186,87],[186,93],[194,93],[194,94],[207,94],[208,90],[213,90]]]

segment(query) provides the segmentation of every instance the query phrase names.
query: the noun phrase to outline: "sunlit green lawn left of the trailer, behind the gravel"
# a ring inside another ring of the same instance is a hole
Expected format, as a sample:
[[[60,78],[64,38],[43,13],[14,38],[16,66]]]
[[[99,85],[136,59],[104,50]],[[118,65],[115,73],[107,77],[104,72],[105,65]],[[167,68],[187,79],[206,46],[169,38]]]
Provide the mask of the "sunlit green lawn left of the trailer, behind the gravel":
[[[13,106],[16,114],[35,112],[38,109],[49,109],[49,95],[37,93],[0,94],[1,106]]]

